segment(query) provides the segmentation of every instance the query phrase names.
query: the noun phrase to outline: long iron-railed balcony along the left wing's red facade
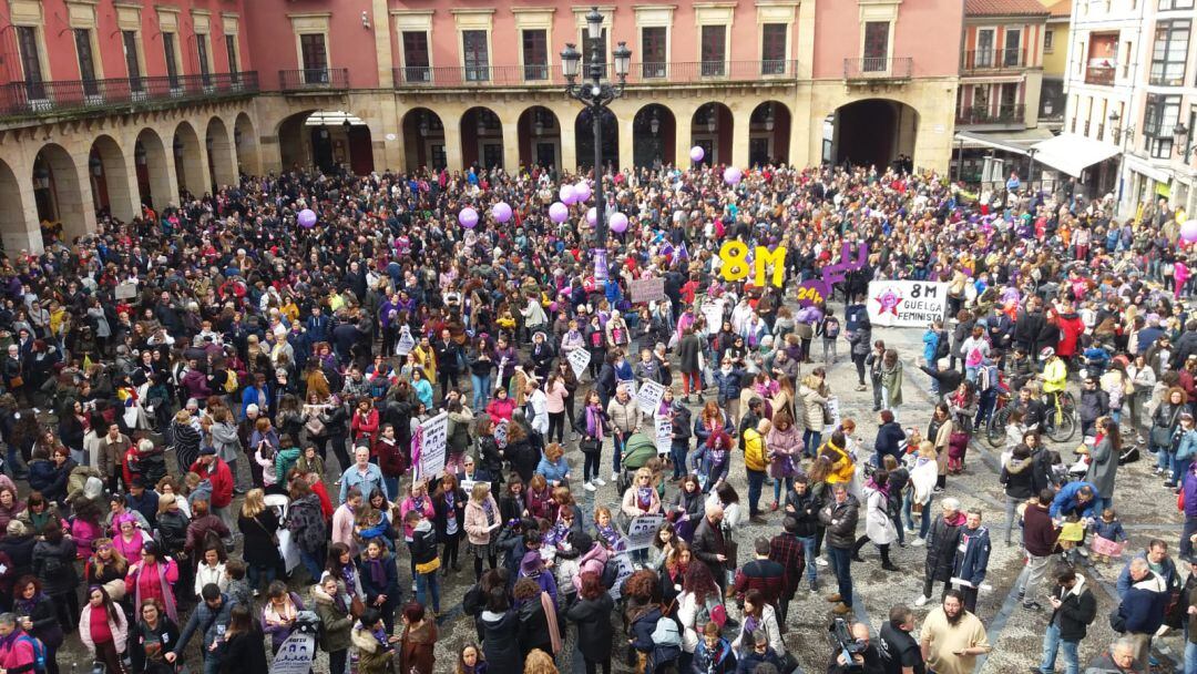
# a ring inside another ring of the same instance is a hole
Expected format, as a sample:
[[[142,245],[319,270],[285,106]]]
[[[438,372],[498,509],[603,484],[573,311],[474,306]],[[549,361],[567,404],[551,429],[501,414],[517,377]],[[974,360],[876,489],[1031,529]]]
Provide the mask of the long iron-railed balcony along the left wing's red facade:
[[[110,113],[257,93],[257,72],[0,85],[0,117]]]

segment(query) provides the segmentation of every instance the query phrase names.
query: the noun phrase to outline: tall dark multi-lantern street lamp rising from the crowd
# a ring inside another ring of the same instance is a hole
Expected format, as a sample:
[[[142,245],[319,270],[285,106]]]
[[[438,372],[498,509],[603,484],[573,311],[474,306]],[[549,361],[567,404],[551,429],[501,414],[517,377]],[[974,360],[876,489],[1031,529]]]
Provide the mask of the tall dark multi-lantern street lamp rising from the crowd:
[[[632,50],[626,42],[620,42],[612,51],[615,61],[615,77],[618,81],[602,81],[603,55],[598,48],[598,40],[602,37],[602,14],[598,7],[591,7],[587,14],[587,37],[590,38],[590,60],[587,63],[587,73],[581,84],[577,83],[582,53],[572,43],[566,43],[561,50],[561,73],[565,74],[565,93],[575,101],[582,103],[590,110],[595,136],[595,245],[607,245],[607,208],[602,194],[602,114],[610,105],[610,102],[624,95],[624,85],[627,84],[627,73],[632,68]]]

